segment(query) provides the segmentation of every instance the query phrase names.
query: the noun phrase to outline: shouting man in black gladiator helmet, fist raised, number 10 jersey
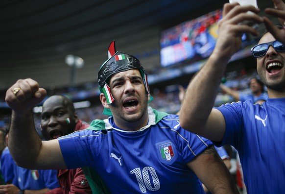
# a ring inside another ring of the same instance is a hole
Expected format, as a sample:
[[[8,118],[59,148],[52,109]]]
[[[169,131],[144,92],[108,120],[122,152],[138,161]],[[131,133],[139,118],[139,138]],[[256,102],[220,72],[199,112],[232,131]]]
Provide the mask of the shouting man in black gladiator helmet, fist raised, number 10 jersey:
[[[17,164],[83,167],[91,188],[98,174],[114,194],[203,194],[199,179],[213,194],[238,194],[210,140],[181,128],[179,116],[148,106],[147,75],[136,57],[116,52],[101,66],[98,84],[104,113],[110,117],[44,142],[31,109],[46,90],[32,79],[18,80],[8,89],[6,102],[13,109],[9,148]]]

